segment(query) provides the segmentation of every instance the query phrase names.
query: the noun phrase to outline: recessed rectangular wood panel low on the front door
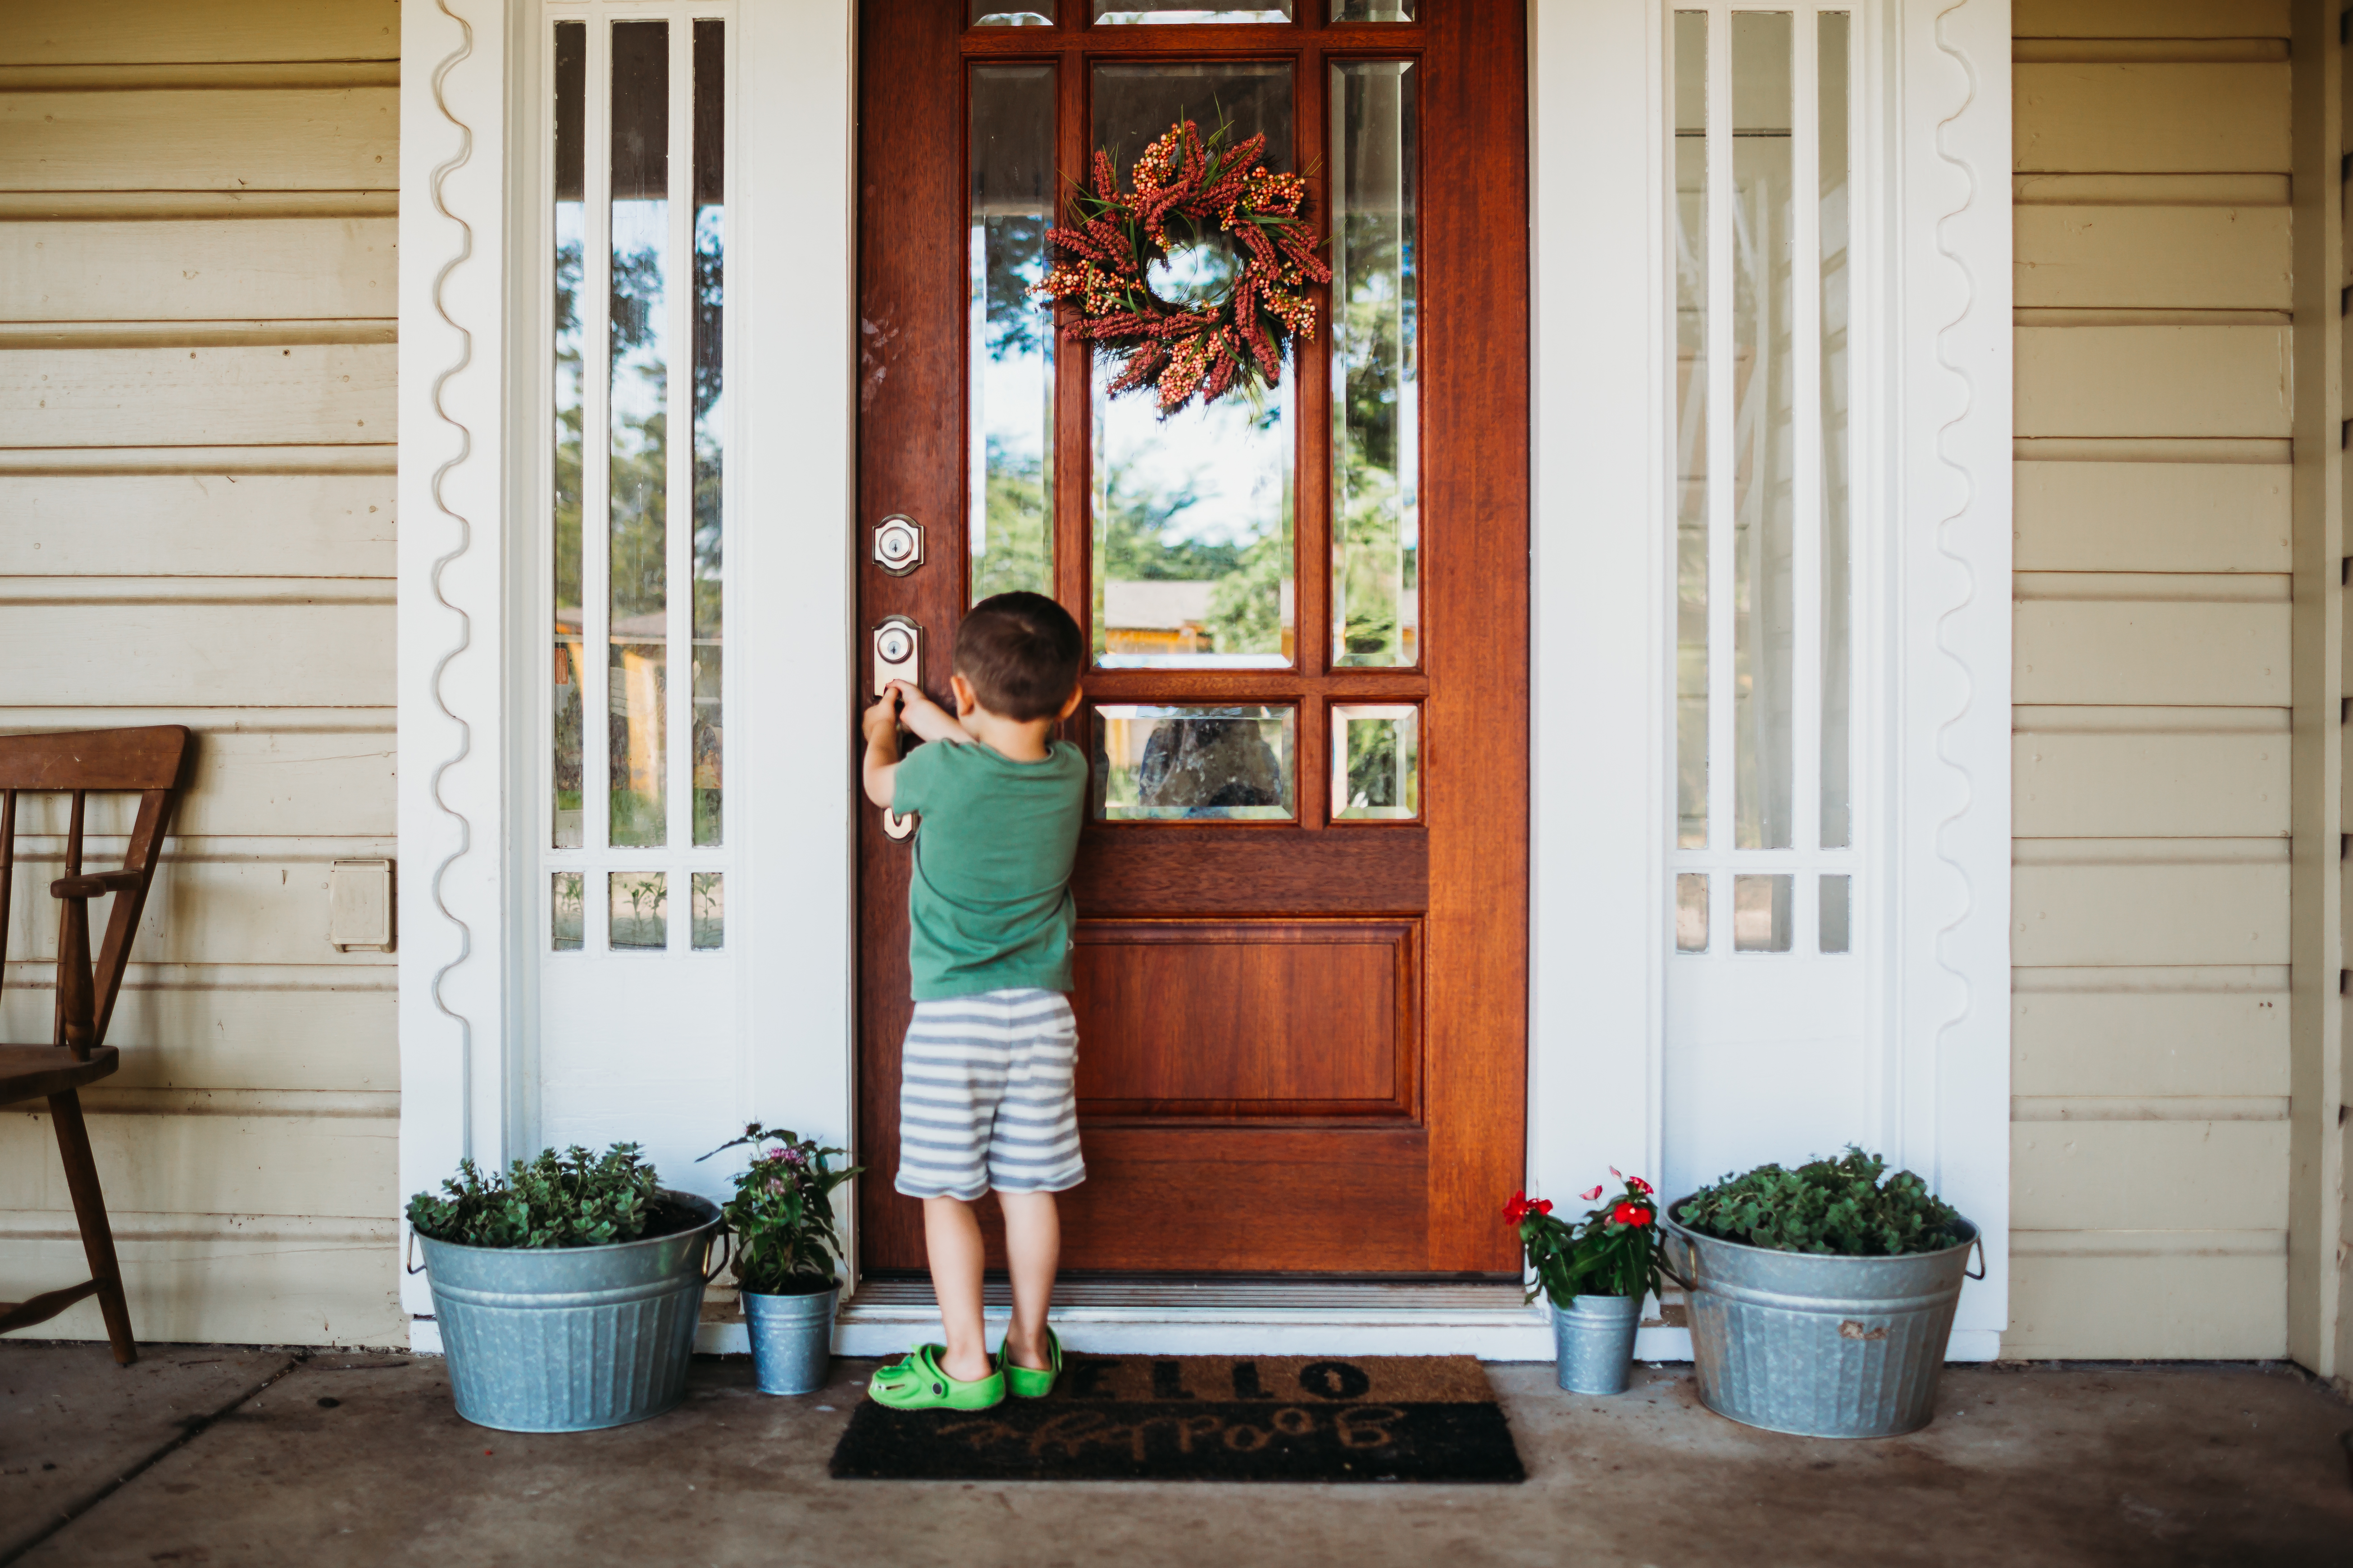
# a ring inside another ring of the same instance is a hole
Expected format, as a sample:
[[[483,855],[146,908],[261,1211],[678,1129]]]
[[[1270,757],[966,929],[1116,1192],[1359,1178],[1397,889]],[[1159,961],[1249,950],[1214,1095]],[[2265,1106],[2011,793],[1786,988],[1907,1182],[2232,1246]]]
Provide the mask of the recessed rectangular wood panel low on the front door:
[[[1409,1114],[1414,926],[1089,922],[1080,1114]]]

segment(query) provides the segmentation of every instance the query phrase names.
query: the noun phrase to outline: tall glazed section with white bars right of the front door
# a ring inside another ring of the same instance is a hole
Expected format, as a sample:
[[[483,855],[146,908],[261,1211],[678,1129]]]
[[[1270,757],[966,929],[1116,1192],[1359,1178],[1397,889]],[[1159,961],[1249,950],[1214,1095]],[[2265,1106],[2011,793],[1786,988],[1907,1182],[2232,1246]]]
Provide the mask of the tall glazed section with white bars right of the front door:
[[[1678,954],[1854,945],[1852,21],[1671,19]]]

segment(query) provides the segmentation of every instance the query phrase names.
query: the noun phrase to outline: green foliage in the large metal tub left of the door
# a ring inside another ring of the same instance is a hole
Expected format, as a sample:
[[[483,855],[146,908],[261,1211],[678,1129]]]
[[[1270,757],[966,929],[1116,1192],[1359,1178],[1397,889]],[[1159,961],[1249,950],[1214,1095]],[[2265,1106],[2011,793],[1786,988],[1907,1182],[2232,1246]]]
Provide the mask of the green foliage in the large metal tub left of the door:
[[[442,1194],[409,1199],[409,1225],[433,1241],[464,1246],[614,1246],[635,1241],[654,1220],[654,1166],[638,1159],[640,1145],[616,1143],[602,1154],[572,1145],[562,1154],[508,1166],[504,1178],[482,1175],[461,1159]]]

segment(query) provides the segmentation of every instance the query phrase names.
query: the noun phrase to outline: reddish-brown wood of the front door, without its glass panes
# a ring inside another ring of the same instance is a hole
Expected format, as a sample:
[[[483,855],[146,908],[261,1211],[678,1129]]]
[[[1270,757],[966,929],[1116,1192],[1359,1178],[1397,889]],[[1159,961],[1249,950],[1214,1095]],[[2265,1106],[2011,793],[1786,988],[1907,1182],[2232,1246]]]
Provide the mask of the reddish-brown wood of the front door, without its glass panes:
[[[1094,668],[1094,708],[1271,705],[1297,715],[1294,820],[1089,823],[1080,912],[1080,1135],[1064,1194],[1073,1272],[1518,1276],[1497,1220],[1522,1182],[1527,1072],[1527,40],[1511,0],[1428,0],[1419,24],[962,28],[941,0],[859,12],[859,621],[913,616],[946,693],[967,602],[967,73],[1054,71],[1056,183],[1092,155],[1101,63],[1289,61],[1292,167],[1329,233],[1329,71],[1409,61],[1419,92],[1419,663],[1332,665],[1332,334],[1285,367],[1297,637],[1287,668]],[[1132,150],[1129,150],[1132,153]],[[1329,301],[1320,301],[1327,315]],[[1092,400],[1054,355],[1052,590],[1094,604]],[[892,512],[927,527],[908,576],[868,559]],[[1089,628],[1092,630],[1092,628]],[[864,658],[859,661],[864,670]],[[864,696],[864,691],[861,691]],[[1332,818],[1332,708],[1419,715],[1417,820]],[[854,771],[854,769],[852,769]],[[892,1192],[911,1016],[911,846],[859,806],[859,1248],[925,1265]],[[993,1229],[995,1206],[981,1204]]]

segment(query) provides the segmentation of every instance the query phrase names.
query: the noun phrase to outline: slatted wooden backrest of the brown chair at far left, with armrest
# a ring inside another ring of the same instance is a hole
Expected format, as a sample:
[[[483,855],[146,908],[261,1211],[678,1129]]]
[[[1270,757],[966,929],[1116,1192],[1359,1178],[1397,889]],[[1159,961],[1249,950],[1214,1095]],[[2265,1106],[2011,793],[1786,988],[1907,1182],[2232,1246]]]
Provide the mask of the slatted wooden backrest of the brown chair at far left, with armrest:
[[[172,825],[181,773],[188,764],[191,736],[184,724],[144,729],[82,729],[49,736],[0,736],[0,959],[7,954],[7,924],[16,882],[16,795],[73,795],[66,825],[66,884],[89,886],[64,898],[56,943],[56,1027],[54,1044],[71,1044],[87,1056],[106,1041],[115,1013],[122,971],[129,964],[132,936],[146,910],[162,837]],[[82,802],[89,792],[139,792],[139,820],[120,872],[82,877]],[[113,893],[106,940],[89,961],[87,898]],[[0,969],[5,976],[5,969]]]

